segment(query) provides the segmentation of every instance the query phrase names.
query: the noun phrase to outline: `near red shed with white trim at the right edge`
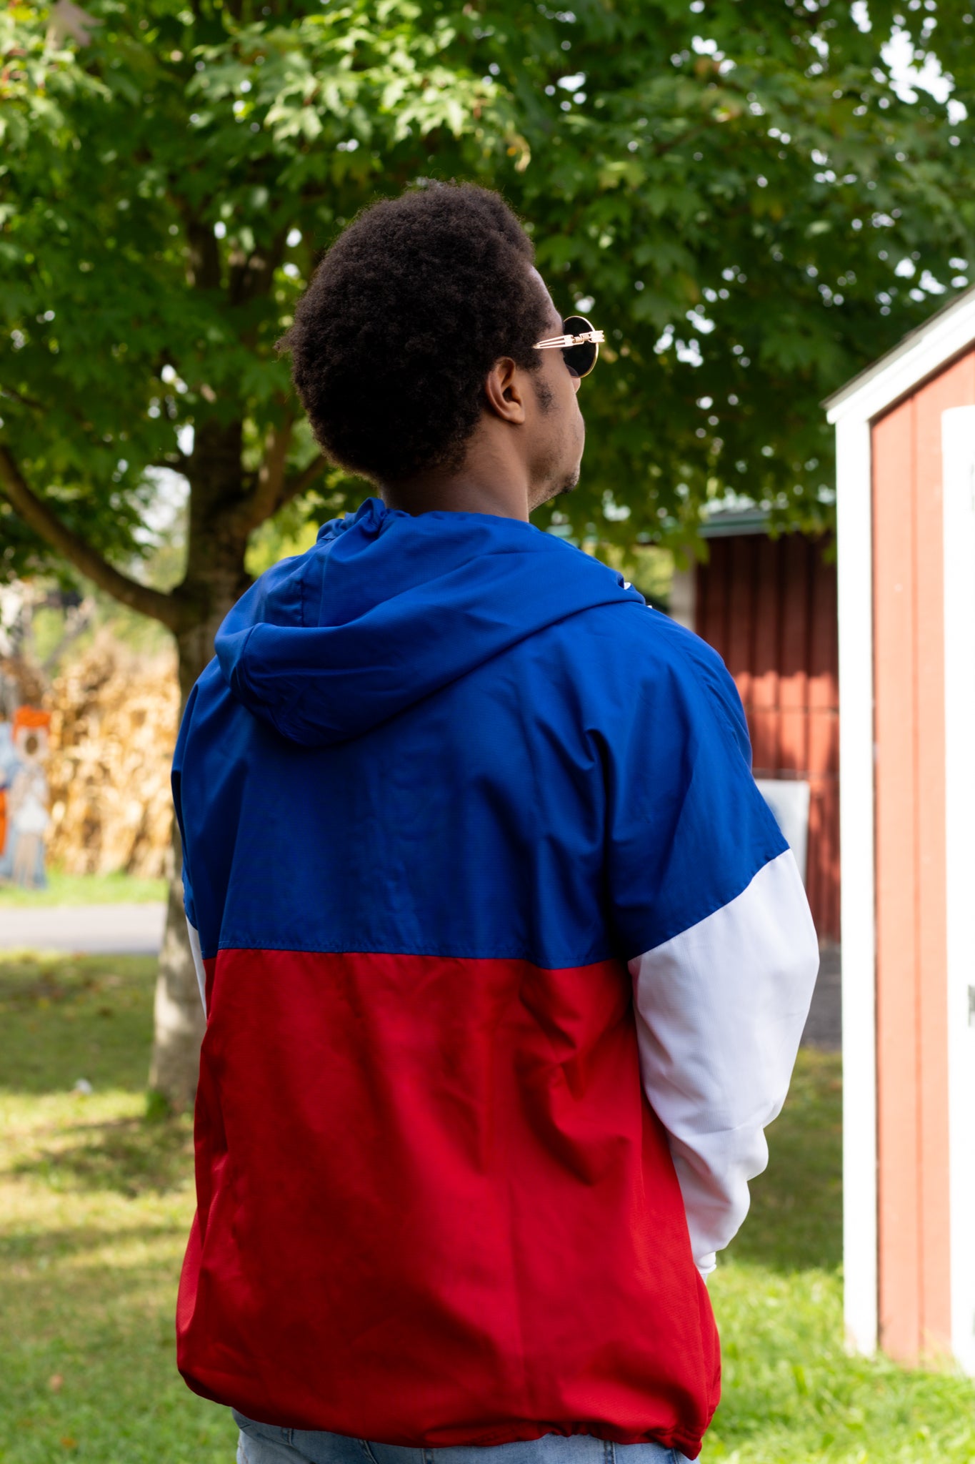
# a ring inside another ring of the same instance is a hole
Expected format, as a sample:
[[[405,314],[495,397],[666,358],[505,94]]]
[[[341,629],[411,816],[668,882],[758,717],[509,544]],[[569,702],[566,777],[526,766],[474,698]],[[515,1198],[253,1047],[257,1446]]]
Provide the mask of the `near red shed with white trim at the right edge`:
[[[826,406],[846,1326],[975,1373],[975,290]]]

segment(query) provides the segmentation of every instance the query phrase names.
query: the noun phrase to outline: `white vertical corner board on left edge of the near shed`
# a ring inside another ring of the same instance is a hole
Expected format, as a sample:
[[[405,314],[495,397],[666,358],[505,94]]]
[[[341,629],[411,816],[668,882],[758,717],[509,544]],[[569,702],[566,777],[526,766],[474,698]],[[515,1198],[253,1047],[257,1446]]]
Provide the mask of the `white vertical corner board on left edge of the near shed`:
[[[843,950],[843,1315],[877,1345],[873,507],[870,423],[836,429],[839,848]]]

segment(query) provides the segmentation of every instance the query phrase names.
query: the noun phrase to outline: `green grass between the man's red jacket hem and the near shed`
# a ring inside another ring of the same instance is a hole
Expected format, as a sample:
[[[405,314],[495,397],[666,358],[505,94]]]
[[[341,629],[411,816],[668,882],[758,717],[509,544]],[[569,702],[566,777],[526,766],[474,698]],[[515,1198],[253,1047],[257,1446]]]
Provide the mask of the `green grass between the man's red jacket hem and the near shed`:
[[[839,1054],[801,1051],[769,1168],[709,1284],[724,1395],[706,1464],[975,1460],[969,1379],[845,1350],[841,1101]]]

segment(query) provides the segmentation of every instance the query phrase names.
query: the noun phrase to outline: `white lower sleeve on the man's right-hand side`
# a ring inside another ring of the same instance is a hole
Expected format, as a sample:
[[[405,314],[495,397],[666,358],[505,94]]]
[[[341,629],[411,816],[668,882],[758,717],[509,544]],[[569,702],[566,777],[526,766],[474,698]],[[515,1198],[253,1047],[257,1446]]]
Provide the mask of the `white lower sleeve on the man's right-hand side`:
[[[808,1015],[819,944],[792,851],[737,899],[630,962],[640,1072],[669,1136],[702,1275],[769,1162]]]

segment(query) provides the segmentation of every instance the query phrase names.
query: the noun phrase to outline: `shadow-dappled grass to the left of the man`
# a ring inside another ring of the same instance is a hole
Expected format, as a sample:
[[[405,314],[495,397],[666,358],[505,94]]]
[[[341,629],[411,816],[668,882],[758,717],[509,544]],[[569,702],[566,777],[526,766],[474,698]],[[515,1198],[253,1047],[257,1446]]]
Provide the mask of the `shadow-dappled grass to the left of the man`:
[[[153,974],[0,957],[3,1464],[234,1458],[229,1413],[175,1370],[193,1146],[189,1118],[145,1121]]]

